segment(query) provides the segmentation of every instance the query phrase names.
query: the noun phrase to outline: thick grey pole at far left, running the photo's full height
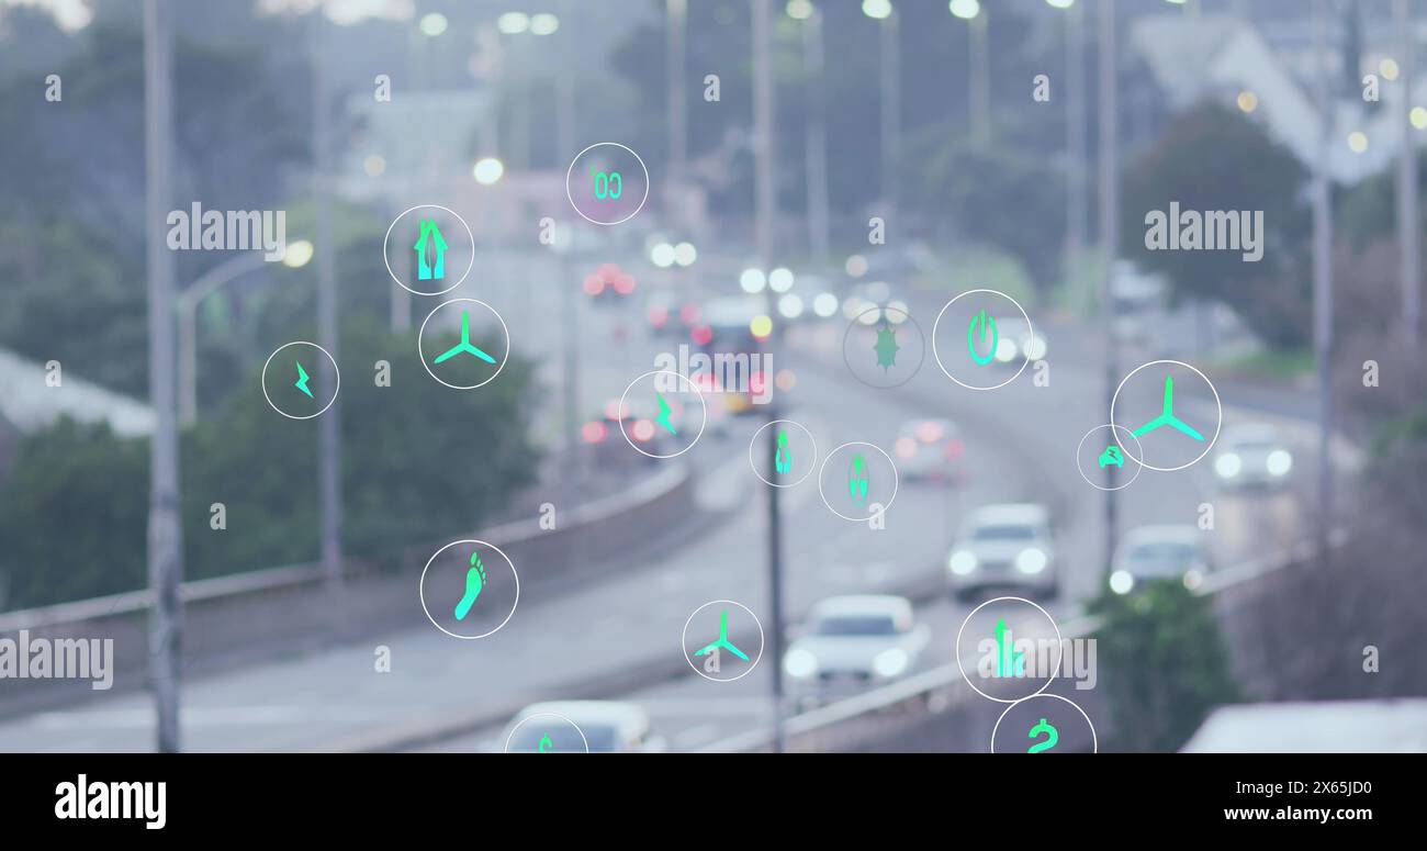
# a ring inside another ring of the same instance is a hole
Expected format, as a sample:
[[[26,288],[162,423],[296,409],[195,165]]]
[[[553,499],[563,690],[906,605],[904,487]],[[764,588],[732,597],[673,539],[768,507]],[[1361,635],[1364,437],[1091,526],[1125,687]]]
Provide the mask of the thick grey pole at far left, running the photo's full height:
[[[148,264],[148,677],[158,715],[158,750],[178,752],[178,650],[183,611],[183,525],[178,520],[178,421],[174,387],[174,260],[163,221],[173,204],[173,9],[144,0],[144,207]]]

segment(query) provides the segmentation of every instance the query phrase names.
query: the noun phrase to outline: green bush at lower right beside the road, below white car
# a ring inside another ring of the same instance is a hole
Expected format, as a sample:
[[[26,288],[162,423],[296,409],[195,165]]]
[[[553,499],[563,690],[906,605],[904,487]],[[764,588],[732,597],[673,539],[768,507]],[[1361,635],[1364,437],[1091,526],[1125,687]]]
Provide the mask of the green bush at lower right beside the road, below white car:
[[[1090,603],[1103,618],[1095,638],[1117,750],[1179,750],[1210,710],[1237,700],[1212,605],[1179,580]]]

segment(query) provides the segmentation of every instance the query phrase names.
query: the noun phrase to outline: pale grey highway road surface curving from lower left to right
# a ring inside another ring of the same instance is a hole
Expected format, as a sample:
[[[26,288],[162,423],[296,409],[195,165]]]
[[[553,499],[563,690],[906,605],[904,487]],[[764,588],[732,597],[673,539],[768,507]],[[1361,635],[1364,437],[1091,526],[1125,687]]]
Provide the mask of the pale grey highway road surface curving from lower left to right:
[[[497,306],[511,327],[512,351],[525,346],[558,351],[559,327],[541,321],[539,307],[559,297],[557,276],[532,276],[537,283],[525,293],[508,281],[495,283],[499,277],[452,296]],[[716,288],[726,294],[732,284],[721,281]],[[936,310],[952,294],[909,298],[928,334]],[[631,378],[654,368],[655,354],[676,348],[678,340],[652,336],[634,301],[602,307],[579,298],[581,346],[616,353],[581,364],[581,416],[588,417],[602,400],[618,398]],[[1075,473],[1075,450],[1089,428],[1107,420],[1100,354],[1090,330],[1033,320],[1050,341],[1050,386],[1035,387],[1027,370],[992,393],[958,387],[930,357],[896,390],[849,381],[841,357],[846,323],[841,313],[792,328],[776,367],[793,370],[796,387],[779,394],[781,416],[805,424],[822,451],[850,440],[890,451],[906,420],[940,416],[962,427],[969,470],[968,480],[955,487],[903,481],[882,531],[833,515],[818,495],[816,475],[783,491],[785,600],[793,623],[828,595],[905,593],[918,598],[918,617],[932,631],[926,664],[949,661],[970,605],[950,603],[940,593],[948,548],[965,511],[997,501],[1050,507],[1062,594],[1049,608],[1057,618],[1072,617],[1080,601],[1096,594],[1103,581],[1103,498]],[[542,363],[547,386],[558,387],[559,358]],[[1122,374],[1139,363],[1124,361]],[[1230,388],[1219,390],[1224,427],[1277,421],[1296,455],[1307,457],[1301,426],[1239,407]],[[1184,416],[1213,421],[1212,400],[1180,404]],[[558,594],[522,595],[509,624],[481,641],[452,640],[427,625],[370,644],[191,680],[184,688],[186,750],[479,750],[521,705],[588,695],[645,705],[674,750],[704,747],[765,724],[769,674],[779,660],[765,655],[752,675],[711,683],[689,670],[679,648],[689,613],[711,600],[736,600],[758,613],[765,627],[772,620],[763,485],[748,465],[748,443],[761,424],[758,416],[729,418],[725,434],[706,433],[688,455],[662,461],[696,465],[699,500],[719,515],[701,537],[685,540],[651,528],[645,541],[631,544],[631,557],[639,561],[634,570],[588,564],[582,578]],[[1296,475],[1311,481],[1311,464],[1300,464]],[[1122,533],[1149,523],[1193,524],[1199,504],[1213,501],[1217,530],[1207,534],[1220,564],[1284,548],[1301,534],[1291,490],[1230,495],[1217,493],[1212,478],[1207,460],[1174,474],[1144,471],[1120,491]],[[551,483],[552,495],[558,487]],[[541,565],[517,568],[539,571]],[[415,584],[411,593],[417,594]],[[374,671],[378,644],[391,648],[391,673]],[[0,724],[0,750],[150,750],[153,724],[150,697],[130,693]]]

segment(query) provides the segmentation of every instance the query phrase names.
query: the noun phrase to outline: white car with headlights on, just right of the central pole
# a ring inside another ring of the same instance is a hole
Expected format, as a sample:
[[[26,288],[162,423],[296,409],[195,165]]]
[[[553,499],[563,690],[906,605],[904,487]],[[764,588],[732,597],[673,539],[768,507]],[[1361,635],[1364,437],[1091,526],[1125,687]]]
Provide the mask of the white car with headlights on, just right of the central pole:
[[[929,630],[905,597],[829,597],[812,608],[806,633],[783,654],[789,693],[798,698],[860,691],[913,671]]]

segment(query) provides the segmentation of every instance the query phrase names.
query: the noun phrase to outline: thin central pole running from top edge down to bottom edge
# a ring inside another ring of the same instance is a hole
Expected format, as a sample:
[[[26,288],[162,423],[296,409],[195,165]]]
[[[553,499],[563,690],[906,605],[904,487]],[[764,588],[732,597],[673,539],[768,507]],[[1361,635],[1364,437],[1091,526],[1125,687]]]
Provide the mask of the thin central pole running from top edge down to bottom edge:
[[[773,57],[771,44],[769,0],[753,1],[753,194],[758,260],[762,268],[769,268],[773,260]],[[776,317],[772,290],[765,288],[763,298],[768,316]],[[775,351],[782,337],[782,324],[775,318],[773,333],[768,346]],[[763,376],[772,381],[772,376]],[[769,388],[772,391],[772,388]],[[769,421],[778,418],[776,406],[771,406]],[[769,428],[773,434],[776,428]],[[776,444],[769,451],[776,453]],[[772,630],[769,631],[773,677],[773,752],[783,752],[783,540],[778,508],[778,488],[769,487],[768,494],[768,583]]]

